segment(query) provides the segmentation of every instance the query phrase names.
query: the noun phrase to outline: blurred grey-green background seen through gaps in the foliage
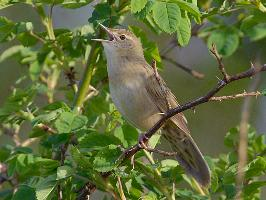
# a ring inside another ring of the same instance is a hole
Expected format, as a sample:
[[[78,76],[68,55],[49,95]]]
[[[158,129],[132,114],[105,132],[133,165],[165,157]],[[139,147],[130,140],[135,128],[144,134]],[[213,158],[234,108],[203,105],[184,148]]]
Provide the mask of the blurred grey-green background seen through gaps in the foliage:
[[[55,7],[54,26],[56,28],[75,28],[88,23],[92,13],[92,6],[76,10],[65,10]],[[36,30],[42,30],[37,14],[26,5],[16,5],[0,11],[0,16],[6,16],[14,21],[32,21]],[[128,16],[123,24],[136,25],[134,18]],[[143,26],[142,26],[143,27]],[[164,49],[173,38],[169,35],[155,35],[148,30],[151,40],[156,41],[160,49]],[[8,44],[10,45],[10,44]],[[0,46],[0,53],[8,48],[7,44]],[[257,59],[259,63],[266,63],[266,40],[249,44],[244,41],[241,48],[230,58],[224,59],[229,73],[236,73],[250,67],[250,62]],[[221,77],[216,60],[211,56],[204,41],[193,37],[188,47],[175,47],[167,56],[179,63],[205,74],[203,80],[197,80],[181,69],[168,62],[164,63],[164,70],[160,71],[168,86],[172,89],[179,102],[182,104],[198,96],[204,95],[217,83]],[[20,66],[17,61],[7,60],[0,63],[0,106],[11,92],[11,87],[18,77],[26,73],[26,66]],[[78,71],[80,78],[82,71]],[[63,79],[63,77],[62,77]],[[250,80],[238,81],[225,88],[219,95],[241,93],[248,88]],[[266,75],[261,74],[260,88],[266,88]],[[195,112],[186,111],[191,133],[205,155],[217,156],[225,153],[223,138],[231,127],[239,124],[240,111],[243,99],[224,102],[210,102],[196,108]],[[250,123],[259,133],[266,133],[266,100],[263,97],[253,100]],[[25,134],[27,129],[25,129]],[[8,141],[4,136],[0,143]]]

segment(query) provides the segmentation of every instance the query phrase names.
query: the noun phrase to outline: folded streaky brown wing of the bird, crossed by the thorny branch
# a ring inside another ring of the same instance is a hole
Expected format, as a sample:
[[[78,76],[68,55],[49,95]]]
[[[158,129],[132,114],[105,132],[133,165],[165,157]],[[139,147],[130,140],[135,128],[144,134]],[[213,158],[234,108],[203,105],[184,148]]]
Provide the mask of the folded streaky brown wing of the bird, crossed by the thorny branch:
[[[156,104],[158,109],[165,113],[169,109],[176,108],[179,106],[174,94],[171,90],[166,86],[164,80],[160,77],[159,74],[154,72],[154,69],[147,65],[146,67],[148,73],[148,80],[145,84],[145,88]],[[182,131],[189,134],[189,130],[187,127],[187,120],[183,113],[178,113],[170,119],[174,124],[178,126]]]

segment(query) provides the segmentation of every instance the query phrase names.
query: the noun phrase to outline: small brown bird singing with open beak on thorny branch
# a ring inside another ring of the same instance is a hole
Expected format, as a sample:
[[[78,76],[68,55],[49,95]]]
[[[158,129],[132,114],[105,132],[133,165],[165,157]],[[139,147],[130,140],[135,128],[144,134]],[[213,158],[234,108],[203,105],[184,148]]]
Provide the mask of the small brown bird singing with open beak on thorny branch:
[[[109,39],[94,40],[104,46],[112,100],[131,124],[146,131],[163,113],[178,106],[176,98],[146,62],[141,42],[132,32],[101,27]],[[167,121],[163,136],[177,152],[176,159],[185,171],[202,186],[207,186],[210,183],[209,167],[190,136],[182,113]]]

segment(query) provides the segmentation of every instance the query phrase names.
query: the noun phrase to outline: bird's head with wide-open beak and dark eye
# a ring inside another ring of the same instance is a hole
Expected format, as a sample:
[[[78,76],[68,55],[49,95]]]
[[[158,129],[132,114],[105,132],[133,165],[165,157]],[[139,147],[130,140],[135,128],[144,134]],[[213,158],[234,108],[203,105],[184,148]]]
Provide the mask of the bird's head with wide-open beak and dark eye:
[[[108,39],[93,39],[102,42],[105,52],[111,55],[143,55],[140,40],[129,30],[107,28],[100,24],[107,33]]]

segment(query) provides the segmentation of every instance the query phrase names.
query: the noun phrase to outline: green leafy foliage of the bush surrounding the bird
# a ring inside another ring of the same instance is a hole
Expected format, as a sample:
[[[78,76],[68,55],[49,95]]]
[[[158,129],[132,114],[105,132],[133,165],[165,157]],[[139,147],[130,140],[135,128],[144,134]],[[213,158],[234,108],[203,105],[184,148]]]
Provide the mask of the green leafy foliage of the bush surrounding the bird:
[[[151,154],[142,151],[135,155],[134,168],[129,160],[121,163],[123,150],[137,143],[138,132],[111,103],[103,49],[90,39],[103,37],[99,22],[114,27],[131,13],[156,34],[174,35],[180,46],[188,45],[191,36],[197,36],[206,45],[215,43],[221,55],[230,56],[246,38],[250,42],[265,40],[265,1],[100,1],[89,24],[75,30],[54,29],[44,7],[77,9],[91,0],[4,0],[0,9],[19,3],[36,10],[45,31],[37,32],[32,22],[0,17],[0,42],[15,44],[1,54],[0,62],[15,57],[21,65],[28,66],[28,73],[14,84],[12,94],[0,108],[1,134],[14,141],[0,148],[1,178],[6,180],[1,185],[2,199],[56,199],[60,188],[62,199],[76,199],[87,182],[108,193],[106,198],[117,199],[122,191],[127,199],[234,198],[238,128],[231,129],[225,137],[229,153],[206,157],[212,180],[205,195],[175,160],[154,161]],[[196,32],[193,29],[204,24],[207,26]],[[130,30],[141,39],[147,61],[155,59],[161,66],[157,45],[139,27],[132,26]],[[13,40],[15,43],[11,43]],[[77,90],[75,69],[82,64],[88,70]],[[66,81],[61,81],[62,74]],[[97,91],[89,89],[89,85]],[[27,139],[22,140],[25,126],[30,131],[27,129]],[[259,199],[261,188],[266,185],[260,179],[266,172],[265,138],[252,128],[248,137],[243,196]],[[154,136],[150,145],[155,146],[158,141],[159,136]],[[38,147],[33,147],[32,142]],[[109,172],[111,175],[106,178]]]

